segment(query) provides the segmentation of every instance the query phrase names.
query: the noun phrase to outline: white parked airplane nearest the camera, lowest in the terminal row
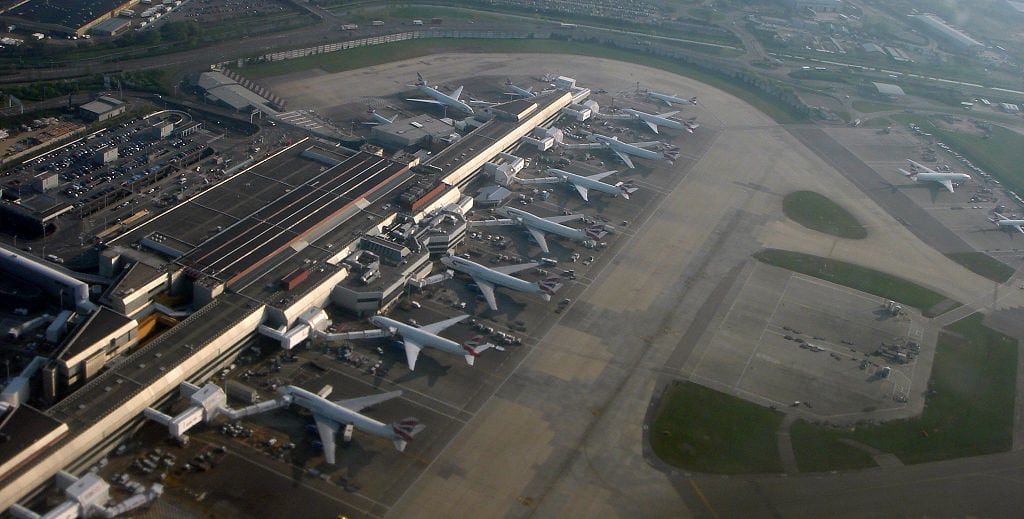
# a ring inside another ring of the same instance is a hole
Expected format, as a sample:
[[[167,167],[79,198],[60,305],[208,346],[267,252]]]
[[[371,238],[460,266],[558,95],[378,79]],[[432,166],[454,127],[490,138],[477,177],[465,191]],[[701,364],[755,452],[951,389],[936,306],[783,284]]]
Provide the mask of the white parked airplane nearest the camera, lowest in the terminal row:
[[[313,421],[316,422],[316,432],[319,433],[321,443],[324,444],[324,461],[329,465],[334,465],[335,436],[341,427],[344,427],[345,441],[352,438],[353,429],[358,429],[365,433],[391,440],[398,451],[404,450],[407,443],[424,429],[424,426],[415,418],[407,418],[385,425],[359,414],[360,410],[371,405],[401,396],[401,391],[336,401],[327,399],[331,391],[331,386],[324,386],[324,389],[317,393],[296,386],[283,386],[278,390],[284,401],[297,404],[312,413]]]

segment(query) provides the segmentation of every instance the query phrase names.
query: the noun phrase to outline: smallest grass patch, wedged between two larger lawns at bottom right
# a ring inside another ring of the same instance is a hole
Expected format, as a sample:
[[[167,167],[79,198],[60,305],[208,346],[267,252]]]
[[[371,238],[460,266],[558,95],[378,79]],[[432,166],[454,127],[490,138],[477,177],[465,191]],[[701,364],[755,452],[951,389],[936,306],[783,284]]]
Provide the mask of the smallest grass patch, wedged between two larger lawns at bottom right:
[[[800,472],[826,472],[876,467],[867,452],[842,441],[844,429],[821,427],[798,420],[790,427]],[[797,448],[797,447],[800,448]]]

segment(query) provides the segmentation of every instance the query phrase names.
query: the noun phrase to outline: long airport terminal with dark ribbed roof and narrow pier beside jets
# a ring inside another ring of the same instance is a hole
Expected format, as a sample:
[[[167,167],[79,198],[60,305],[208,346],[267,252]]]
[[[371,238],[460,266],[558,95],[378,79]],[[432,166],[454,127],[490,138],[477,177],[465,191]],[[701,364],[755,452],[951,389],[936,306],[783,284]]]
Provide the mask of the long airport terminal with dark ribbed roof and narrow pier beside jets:
[[[23,405],[40,427],[11,439],[27,448],[0,450],[0,509],[34,495],[58,471],[102,458],[143,423],[143,409],[230,363],[258,330],[290,328],[307,310],[349,299],[345,291],[359,284],[348,279],[346,259],[366,250],[407,254],[381,231],[401,218],[433,221],[424,217],[467,209],[462,189],[484,164],[589,93],[572,84],[490,106],[485,122],[422,164],[379,150],[342,157],[303,139],[106,244],[101,272],[120,276],[102,298],[109,306],[137,318],[161,308],[157,296],[190,291],[196,311],[45,412]],[[462,220],[426,249],[450,251],[464,234]],[[399,265],[392,262],[390,279],[362,283],[366,297],[352,309],[382,308],[401,294],[394,289],[429,272]],[[279,338],[286,347],[302,340]]]

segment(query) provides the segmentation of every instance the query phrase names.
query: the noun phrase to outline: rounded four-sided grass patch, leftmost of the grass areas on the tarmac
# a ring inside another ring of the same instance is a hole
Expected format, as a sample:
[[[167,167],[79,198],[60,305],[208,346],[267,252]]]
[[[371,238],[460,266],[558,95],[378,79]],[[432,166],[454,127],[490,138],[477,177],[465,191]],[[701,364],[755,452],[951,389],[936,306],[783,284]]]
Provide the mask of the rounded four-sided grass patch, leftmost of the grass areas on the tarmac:
[[[692,382],[665,389],[650,445],[676,467],[721,474],[781,472],[782,414]]]

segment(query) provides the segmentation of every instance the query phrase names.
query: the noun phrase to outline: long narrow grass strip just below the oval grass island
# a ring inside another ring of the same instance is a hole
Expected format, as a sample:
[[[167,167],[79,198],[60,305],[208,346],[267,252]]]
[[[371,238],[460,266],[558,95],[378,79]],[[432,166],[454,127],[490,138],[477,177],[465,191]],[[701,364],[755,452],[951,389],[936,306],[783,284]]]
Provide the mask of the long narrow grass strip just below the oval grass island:
[[[778,249],[765,249],[755,254],[754,257],[769,265],[787,268],[795,272],[899,301],[921,309],[926,315],[928,309],[946,301],[942,294],[902,277],[845,261]],[[955,306],[959,306],[959,304],[957,303]],[[943,305],[943,307],[945,310],[950,309],[949,305]]]

